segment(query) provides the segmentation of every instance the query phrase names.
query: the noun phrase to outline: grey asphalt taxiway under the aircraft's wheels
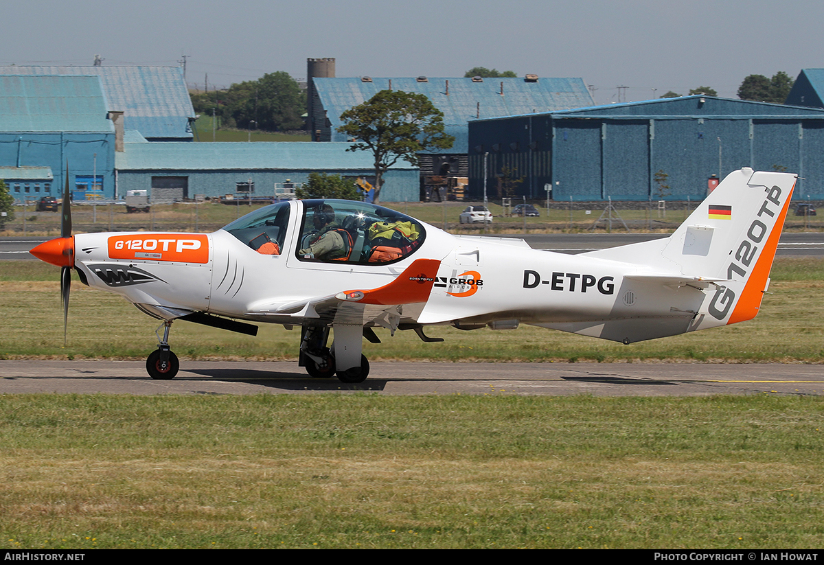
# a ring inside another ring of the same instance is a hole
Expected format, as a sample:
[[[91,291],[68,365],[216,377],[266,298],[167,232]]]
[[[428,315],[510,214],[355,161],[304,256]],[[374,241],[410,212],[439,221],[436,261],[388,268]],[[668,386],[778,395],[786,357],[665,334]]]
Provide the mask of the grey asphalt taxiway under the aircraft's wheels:
[[[0,394],[824,396],[824,365],[372,362],[367,381],[312,379],[297,362],[183,361],[152,381],[139,361],[0,361]]]

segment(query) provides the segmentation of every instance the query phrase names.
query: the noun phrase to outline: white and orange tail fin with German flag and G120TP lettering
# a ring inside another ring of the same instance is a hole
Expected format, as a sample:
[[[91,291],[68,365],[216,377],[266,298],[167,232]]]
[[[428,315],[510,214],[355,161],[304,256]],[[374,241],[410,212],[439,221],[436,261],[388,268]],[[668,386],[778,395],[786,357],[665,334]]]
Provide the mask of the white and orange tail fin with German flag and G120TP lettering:
[[[691,329],[751,320],[769,283],[775,250],[798,175],[743,168],[730,173],[663,240],[589,255],[715,282]]]

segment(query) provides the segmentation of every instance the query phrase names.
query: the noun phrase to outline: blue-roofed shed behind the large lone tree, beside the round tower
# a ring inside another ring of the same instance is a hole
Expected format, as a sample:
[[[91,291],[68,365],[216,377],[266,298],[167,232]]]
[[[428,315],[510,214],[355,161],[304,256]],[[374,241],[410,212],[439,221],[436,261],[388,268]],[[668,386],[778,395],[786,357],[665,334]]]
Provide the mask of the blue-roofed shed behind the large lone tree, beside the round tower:
[[[422,154],[420,174],[467,176],[467,124],[471,120],[592,106],[580,78],[313,77],[309,125],[313,141],[349,141],[337,128],[340,114],[383,90],[423,94],[443,112],[451,149]],[[416,197],[417,198],[417,197]]]

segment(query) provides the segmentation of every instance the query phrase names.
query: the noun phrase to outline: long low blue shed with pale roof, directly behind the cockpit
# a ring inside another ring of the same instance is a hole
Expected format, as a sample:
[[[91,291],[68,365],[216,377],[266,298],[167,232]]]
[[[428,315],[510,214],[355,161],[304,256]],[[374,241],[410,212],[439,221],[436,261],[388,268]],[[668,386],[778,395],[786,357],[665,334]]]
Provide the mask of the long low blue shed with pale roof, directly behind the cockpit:
[[[148,190],[152,199],[209,198],[236,193],[238,183],[252,183],[251,194],[274,196],[277,185],[305,183],[312,172],[343,177],[374,175],[366,152],[347,152],[350,143],[210,142],[148,143],[130,133],[115,166],[119,196]],[[418,168],[405,163],[384,175],[383,202],[418,199]],[[244,186],[243,190],[248,187]]]

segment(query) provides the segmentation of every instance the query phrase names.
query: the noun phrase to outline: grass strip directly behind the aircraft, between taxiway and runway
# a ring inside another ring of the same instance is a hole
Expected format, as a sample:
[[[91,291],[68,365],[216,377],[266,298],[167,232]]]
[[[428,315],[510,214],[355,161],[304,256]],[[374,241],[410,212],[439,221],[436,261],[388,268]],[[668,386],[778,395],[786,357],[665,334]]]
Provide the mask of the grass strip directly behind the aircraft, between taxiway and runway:
[[[427,334],[446,339],[423,343],[414,332],[380,344],[364,343],[370,359],[527,362],[824,362],[824,260],[779,258],[770,294],[755,320],[672,338],[623,345],[549,329],[471,332],[433,326]],[[157,344],[157,320],[108,292],[83,286],[75,275],[70,300],[68,347],[63,348],[59,269],[34,261],[0,262],[0,357],[143,359]],[[253,338],[178,322],[171,345],[182,359],[296,359],[300,333],[261,325]]]

